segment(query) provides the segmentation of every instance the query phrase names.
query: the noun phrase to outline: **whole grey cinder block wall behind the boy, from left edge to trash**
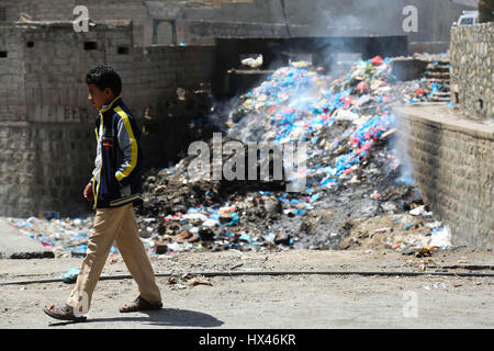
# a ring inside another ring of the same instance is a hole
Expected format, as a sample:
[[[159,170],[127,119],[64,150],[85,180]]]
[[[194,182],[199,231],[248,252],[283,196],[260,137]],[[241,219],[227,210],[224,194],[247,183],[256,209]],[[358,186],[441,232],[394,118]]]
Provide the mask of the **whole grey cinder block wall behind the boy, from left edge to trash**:
[[[169,127],[167,105],[177,102],[177,88],[204,88],[215,57],[214,46],[132,47],[130,23],[98,24],[88,33],[75,33],[70,22],[0,31],[0,52],[7,52],[0,57],[0,215],[4,216],[90,211],[81,195],[96,156],[97,111],[87,100],[88,69],[103,63],[113,66],[122,76],[122,97],[138,123],[143,125],[149,109],[162,129]],[[88,43],[96,47],[87,49]],[[180,140],[143,137],[147,167],[166,166],[183,144],[187,121],[183,115],[172,118],[176,129],[168,135]]]

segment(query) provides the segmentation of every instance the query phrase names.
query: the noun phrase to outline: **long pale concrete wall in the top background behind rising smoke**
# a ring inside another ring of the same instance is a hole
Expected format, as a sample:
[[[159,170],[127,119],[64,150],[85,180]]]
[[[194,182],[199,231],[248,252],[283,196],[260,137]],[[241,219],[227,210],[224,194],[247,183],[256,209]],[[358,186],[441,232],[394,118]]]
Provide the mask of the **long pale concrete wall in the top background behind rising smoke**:
[[[160,18],[159,8],[167,5],[156,2],[150,15]],[[403,31],[407,5],[418,11],[417,32]],[[259,32],[281,37],[407,35],[409,43],[435,43],[446,50],[450,26],[463,10],[470,8],[449,0],[346,0],[345,5],[338,0],[254,0],[251,5],[224,4],[209,11],[184,9],[179,18],[189,41],[260,36]]]

